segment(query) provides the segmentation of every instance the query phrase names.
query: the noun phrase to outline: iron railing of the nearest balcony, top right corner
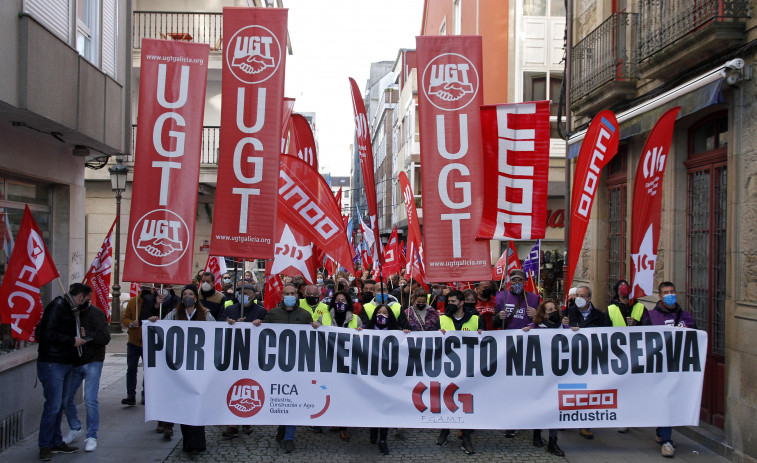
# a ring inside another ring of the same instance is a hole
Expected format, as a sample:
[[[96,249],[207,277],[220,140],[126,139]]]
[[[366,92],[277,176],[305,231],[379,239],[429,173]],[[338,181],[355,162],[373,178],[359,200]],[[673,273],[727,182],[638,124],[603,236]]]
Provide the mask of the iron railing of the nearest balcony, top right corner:
[[[639,60],[713,23],[749,17],[748,0],[641,0]]]

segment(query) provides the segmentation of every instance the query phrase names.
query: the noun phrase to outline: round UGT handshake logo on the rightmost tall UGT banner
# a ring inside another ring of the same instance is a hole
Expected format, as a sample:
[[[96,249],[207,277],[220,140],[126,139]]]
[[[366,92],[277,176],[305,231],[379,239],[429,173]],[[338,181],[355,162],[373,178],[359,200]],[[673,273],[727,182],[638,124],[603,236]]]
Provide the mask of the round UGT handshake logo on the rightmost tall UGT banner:
[[[443,53],[423,70],[423,92],[432,105],[443,111],[462,109],[478,94],[478,71],[457,53]]]

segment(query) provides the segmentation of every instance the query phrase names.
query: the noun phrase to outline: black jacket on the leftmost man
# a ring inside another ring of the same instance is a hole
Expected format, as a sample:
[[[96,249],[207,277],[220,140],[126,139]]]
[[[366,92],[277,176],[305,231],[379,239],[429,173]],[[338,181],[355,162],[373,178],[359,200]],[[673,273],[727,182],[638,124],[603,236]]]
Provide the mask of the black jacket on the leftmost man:
[[[74,347],[76,321],[71,305],[63,296],[47,304],[35,334],[39,343],[38,361],[72,364],[74,357],[78,357]]]

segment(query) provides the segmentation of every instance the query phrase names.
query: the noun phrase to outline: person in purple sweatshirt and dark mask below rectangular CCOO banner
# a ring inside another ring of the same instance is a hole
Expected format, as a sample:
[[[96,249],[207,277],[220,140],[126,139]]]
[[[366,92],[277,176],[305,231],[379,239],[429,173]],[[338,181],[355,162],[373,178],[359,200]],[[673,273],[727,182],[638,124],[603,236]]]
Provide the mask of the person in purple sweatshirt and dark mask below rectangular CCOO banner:
[[[531,323],[539,306],[539,295],[525,291],[525,283],[526,272],[518,268],[510,271],[510,289],[497,294],[492,329],[519,330]]]

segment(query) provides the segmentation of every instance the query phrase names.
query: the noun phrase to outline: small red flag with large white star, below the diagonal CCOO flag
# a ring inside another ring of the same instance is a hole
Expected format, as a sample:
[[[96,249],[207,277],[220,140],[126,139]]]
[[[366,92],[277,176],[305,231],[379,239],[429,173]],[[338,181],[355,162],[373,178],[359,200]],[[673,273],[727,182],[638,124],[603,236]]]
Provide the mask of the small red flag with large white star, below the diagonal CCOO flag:
[[[281,209],[279,209],[281,211]],[[318,269],[313,242],[279,217],[279,237],[273,253],[273,263],[267,268],[271,275],[302,275],[309,284],[315,283]]]

